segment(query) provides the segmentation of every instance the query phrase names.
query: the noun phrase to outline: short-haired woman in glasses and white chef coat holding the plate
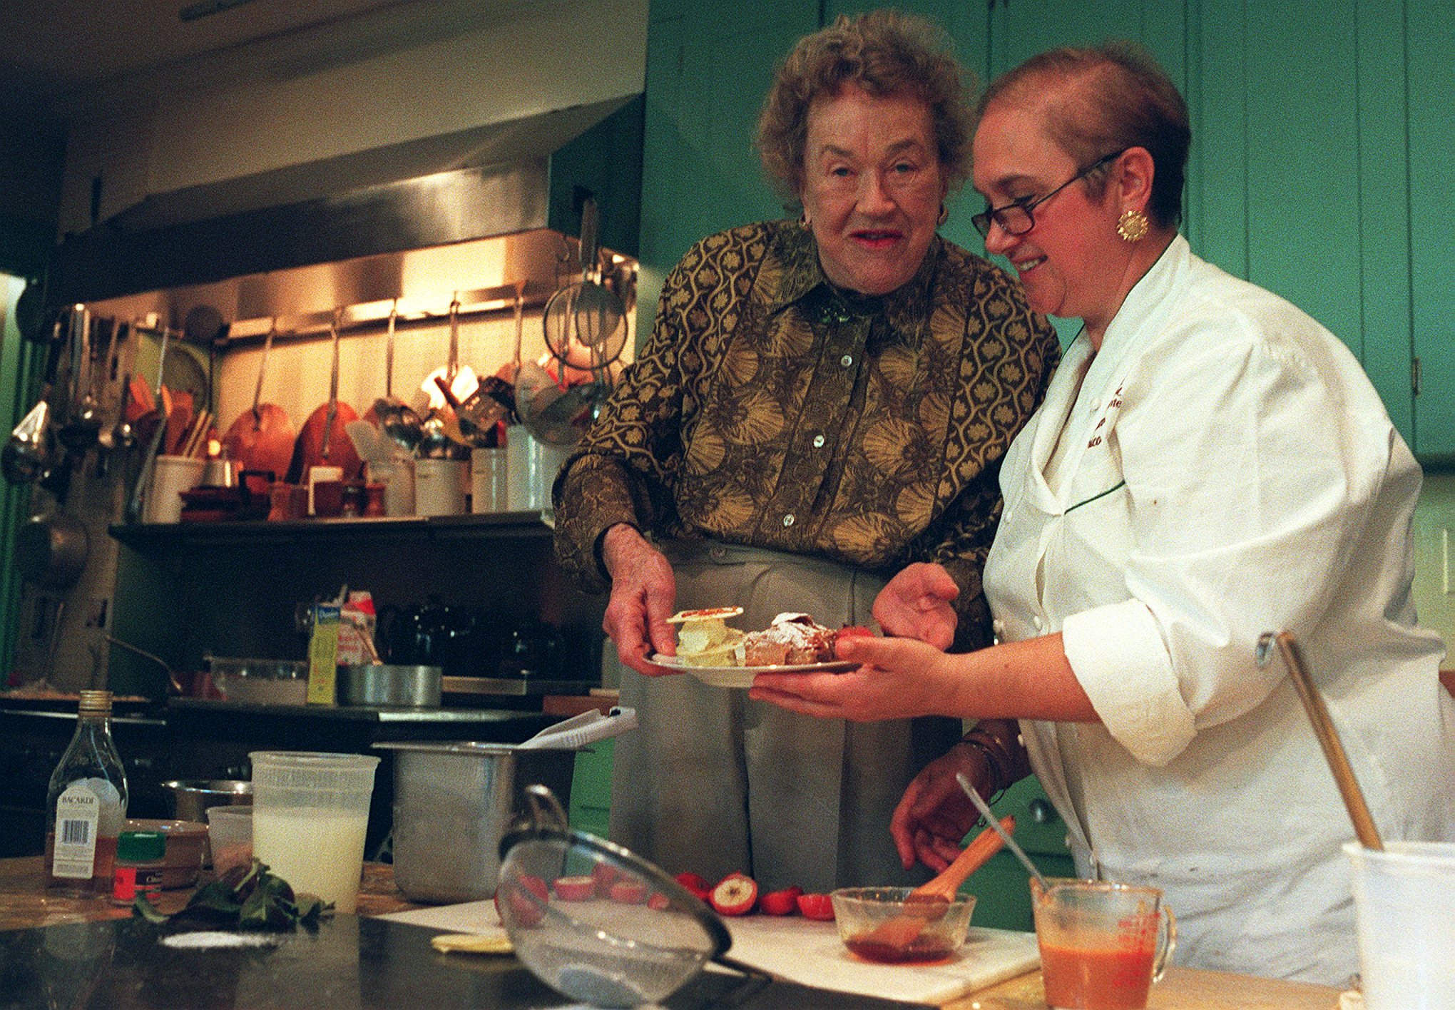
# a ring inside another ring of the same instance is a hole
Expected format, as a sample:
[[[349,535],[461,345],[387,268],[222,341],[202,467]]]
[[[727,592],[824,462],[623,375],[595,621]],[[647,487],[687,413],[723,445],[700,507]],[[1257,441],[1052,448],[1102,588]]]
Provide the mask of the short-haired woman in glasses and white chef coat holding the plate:
[[[1001,645],[856,639],[860,669],[760,675],[751,697],[981,720],[905,792],[905,863],[941,866],[973,822],[956,771],[988,793],[1033,770],[1078,872],[1167,892],[1179,963],[1343,984],[1353,831],[1256,645],[1296,635],[1385,838],[1455,838],[1455,704],[1410,600],[1420,470],[1337,338],[1177,233],[1189,143],[1181,96],[1128,47],[986,90],[976,226],[1033,309],[1084,320],[1001,470]],[[917,568],[953,620],[953,586]]]

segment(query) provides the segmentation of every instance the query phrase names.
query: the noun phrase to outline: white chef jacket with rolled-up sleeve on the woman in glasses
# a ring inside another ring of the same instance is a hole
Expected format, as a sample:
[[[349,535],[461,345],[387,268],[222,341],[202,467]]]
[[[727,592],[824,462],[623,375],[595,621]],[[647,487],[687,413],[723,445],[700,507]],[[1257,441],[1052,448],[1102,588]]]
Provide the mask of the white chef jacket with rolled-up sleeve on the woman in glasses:
[[[1455,704],[1410,600],[1420,469],[1358,361],[1179,236],[1100,352],[1068,349],[1001,488],[997,635],[1061,632],[1101,717],[1021,722],[1078,870],[1163,888],[1177,963],[1344,984],[1353,828],[1263,632],[1298,637],[1382,835],[1455,838]]]

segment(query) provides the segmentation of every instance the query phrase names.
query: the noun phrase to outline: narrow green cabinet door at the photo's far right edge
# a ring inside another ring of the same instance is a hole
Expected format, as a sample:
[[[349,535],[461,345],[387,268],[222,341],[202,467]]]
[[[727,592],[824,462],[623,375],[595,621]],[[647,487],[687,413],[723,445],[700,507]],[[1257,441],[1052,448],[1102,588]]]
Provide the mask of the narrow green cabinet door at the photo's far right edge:
[[[1455,460],[1455,4],[1407,0],[1414,447]]]

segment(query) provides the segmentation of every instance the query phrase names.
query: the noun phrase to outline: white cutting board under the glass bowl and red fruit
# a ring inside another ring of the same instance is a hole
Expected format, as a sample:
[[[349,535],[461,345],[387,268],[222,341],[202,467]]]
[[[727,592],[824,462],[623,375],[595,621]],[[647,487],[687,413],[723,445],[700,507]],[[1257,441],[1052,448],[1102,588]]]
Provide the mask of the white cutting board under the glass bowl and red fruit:
[[[450,933],[503,931],[492,901],[419,908],[380,918]],[[911,1003],[947,1003],[1021,975],[1040,963],[1035,933],[972,926],[954,961],[937,965],[874,965],[848,952],[838,939],[834,923],[797,915],[745,915],[723,921],[732,933],[728,956],[774,978],[835,993]]]

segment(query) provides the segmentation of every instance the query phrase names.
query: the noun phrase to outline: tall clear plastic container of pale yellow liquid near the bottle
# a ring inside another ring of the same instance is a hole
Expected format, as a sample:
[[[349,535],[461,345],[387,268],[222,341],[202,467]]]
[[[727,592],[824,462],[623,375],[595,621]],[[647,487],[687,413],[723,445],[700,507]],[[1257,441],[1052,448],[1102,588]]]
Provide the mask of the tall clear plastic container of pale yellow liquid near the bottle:
[[[297,892],[352,912],[378,758],[253,751],[253,854]]]

